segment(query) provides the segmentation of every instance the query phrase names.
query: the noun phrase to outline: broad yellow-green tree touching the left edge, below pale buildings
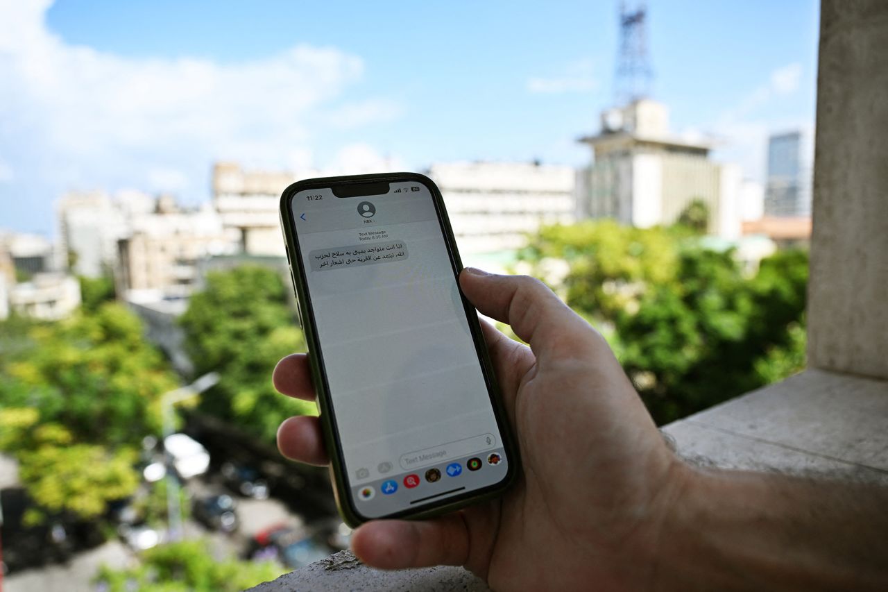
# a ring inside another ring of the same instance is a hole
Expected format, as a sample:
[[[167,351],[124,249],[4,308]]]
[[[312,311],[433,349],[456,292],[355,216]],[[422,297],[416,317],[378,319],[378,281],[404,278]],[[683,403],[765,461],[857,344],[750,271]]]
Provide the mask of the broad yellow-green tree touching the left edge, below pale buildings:
[[[32,347],[2,367],[3,404],[40,411],[76,442],[139,444],[160,431],[160,396],[177,386],[139,317],[116,303],[28,332]]]

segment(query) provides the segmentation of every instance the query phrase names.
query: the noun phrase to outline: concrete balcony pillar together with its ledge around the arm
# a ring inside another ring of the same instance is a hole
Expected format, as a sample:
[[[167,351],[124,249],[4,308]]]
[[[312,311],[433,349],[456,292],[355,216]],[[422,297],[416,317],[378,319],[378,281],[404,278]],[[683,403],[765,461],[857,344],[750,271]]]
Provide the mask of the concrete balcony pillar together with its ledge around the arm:
[[[822,2],[808,370],[663,428],[690,462],[888,485],[886,37],[888,4]],[[488,588],[459,567],[379,572],[344,551],[252,589]]]

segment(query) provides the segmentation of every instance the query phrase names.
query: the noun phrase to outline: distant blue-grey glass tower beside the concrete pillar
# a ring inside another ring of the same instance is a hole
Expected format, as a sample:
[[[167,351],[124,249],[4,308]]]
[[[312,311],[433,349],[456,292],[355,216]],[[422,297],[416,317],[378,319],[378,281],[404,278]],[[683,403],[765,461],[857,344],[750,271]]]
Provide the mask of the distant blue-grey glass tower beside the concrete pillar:
[[[765,216],[810,216],[813,142],[805,132],[778,133],[768,139]]]

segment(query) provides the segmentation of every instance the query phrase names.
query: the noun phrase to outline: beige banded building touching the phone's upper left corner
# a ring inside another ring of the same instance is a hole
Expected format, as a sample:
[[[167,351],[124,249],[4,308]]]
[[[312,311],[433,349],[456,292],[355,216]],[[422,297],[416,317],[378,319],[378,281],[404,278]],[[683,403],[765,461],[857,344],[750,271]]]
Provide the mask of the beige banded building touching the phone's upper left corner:
[[[283,256],[283,236],[278,205],[281,193],[298,179],[293,172],[245,171],[240,164],[213,166],[213,205],[223,227],[239,236],[242,252],[251,255]]]

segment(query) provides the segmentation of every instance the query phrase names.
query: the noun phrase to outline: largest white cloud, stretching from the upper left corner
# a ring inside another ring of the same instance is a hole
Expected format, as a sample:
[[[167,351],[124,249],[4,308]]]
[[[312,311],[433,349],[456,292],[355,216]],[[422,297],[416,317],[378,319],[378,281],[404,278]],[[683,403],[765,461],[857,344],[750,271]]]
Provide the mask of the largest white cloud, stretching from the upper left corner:
[[[51,4],[0,0],[0,153],[35,191],[52,176],[52,190],[205,197],[214,159],[284,167],[324,130],[400,113],[382,98],[346,97],[364,64],[334,47],[300,44],[235,63],[128,58],[67,44],[46,27]]]

